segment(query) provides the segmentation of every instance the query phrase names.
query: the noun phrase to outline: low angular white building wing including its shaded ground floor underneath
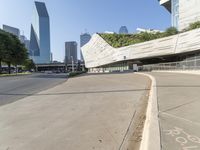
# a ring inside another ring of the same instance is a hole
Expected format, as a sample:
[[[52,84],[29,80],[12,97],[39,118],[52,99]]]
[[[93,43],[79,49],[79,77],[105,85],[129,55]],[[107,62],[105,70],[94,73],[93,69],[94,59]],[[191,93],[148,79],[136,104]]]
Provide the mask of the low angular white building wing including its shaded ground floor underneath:
[[[91,72],[131,70],[133,64],[184,61],[200,55],[200,29],[126,47],[114,48],[94,34],[82,52],[85,66]],[[192,39],[192,40],[191,40]],[[185,67],[189,64],[184,64]],[[199,65],[200,64],[196,64]],[[184,66],[183,66],[184,67]]]

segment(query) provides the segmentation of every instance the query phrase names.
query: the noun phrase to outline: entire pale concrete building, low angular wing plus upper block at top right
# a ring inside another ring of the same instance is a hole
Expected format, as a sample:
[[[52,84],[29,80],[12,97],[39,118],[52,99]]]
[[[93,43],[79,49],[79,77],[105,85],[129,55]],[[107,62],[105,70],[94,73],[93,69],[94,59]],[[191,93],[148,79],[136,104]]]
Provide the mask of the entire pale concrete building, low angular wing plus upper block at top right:
[[[199,0],[160,0],[160,4],[172,14],[172,25],[180,31],[200,20]],[[89,72],[133,70],[136,64],[200,69],[200,28],[120,48],[94,34],[82,53]]]

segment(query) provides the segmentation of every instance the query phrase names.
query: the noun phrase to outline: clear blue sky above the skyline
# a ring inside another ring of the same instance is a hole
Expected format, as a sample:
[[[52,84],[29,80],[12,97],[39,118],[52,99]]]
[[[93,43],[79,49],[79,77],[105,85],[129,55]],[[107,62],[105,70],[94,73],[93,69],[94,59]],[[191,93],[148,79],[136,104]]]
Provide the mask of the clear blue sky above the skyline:
[[[77,41],[89,33],[118,32],[125,25],[164,30],[171,24],[170,14],[158,0],[39,0],[46,3],[51,22],[51,51],[54,60],[64,60],[64,42]],[[7,24],[24,31],[30,38],[34,0],[0,0],[0,27]]]

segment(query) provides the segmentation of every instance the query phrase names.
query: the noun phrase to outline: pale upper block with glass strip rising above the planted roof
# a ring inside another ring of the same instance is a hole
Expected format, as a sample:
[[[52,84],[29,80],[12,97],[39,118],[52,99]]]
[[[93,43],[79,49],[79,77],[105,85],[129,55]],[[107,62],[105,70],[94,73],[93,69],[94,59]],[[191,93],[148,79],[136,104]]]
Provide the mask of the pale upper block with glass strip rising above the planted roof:
[[[200,21],[200,0],[159,0],[170,13],[172,26],[186,29],[191,23]]]

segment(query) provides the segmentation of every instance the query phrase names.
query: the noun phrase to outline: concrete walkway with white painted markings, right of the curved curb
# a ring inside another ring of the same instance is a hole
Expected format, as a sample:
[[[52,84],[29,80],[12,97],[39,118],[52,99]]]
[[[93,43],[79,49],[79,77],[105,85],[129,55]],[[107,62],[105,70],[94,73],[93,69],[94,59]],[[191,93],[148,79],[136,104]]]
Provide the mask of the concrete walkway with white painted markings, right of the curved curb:
[[[157,82],[162,150],[200,150],[200,76],[150,74]]]

